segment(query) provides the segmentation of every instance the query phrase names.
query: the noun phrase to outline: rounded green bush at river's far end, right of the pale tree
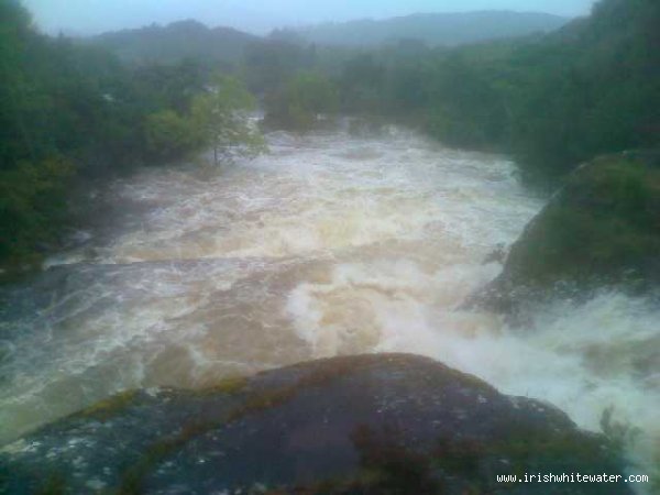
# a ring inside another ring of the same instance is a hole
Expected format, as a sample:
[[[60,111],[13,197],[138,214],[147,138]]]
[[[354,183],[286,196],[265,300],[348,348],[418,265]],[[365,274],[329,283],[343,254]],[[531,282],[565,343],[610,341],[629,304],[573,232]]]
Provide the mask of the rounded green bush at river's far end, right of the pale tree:
[[[311,72],[299,72],[266,102],[266,121],[296,131],[314,129],[339,107],[334,84]]]

